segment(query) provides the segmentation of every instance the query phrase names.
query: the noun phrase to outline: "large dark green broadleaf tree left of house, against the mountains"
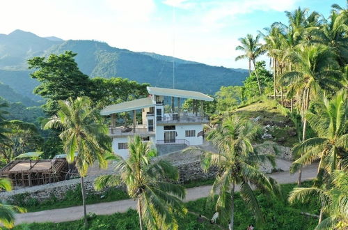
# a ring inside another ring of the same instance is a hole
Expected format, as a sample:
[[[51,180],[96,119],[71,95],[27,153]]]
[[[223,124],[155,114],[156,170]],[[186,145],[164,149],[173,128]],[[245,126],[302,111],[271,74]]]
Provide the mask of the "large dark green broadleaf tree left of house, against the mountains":
[[[90,81],[87,75],[79,70],[74,54],[65,51],[64,54],[51,54],[47,59],[36,56],[29,59],[29,69],[35,69],[31,77],[41,83],[34,93],[47,98],[45,111],[49,116],[58,111],[58,100],[77,98],[90,95]]]

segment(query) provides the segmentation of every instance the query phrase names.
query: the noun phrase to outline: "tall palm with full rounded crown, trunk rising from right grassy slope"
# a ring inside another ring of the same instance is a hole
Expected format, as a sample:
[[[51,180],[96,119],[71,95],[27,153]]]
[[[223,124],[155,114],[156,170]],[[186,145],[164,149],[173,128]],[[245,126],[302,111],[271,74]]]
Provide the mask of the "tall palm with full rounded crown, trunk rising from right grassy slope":
[[[329,47],[324,45],[301,46],[290,55],[292,62],[296,64],[296,71],[285,72],[283,82],[290,84],[290,91],[296,91],[302,95],[301,114],[303,117],[302,141],[306,140],[307,119],[303,114],[309,108],[312,94],[320,89],[333,91],[341,84],[335,80],[340,79],[341,72],[335,55]],[[312,93],[312,94],[311,94]],[[299,184],[301,184],[301,169],[299,170]]]

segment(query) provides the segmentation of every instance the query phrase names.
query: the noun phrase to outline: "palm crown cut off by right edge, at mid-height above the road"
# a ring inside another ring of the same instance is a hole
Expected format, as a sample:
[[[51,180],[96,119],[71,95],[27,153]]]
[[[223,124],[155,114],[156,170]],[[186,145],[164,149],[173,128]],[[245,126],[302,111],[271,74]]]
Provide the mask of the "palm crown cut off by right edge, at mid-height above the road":
[[[347,94],[340,91],[334,98],[324,100],[315,106],[315,113],[308,112],[306,118],[310,127],[317,132],[313,137],[295,146],[293,152],[301,157],[292,164],[291,171],[301,165],[320,159],[320,169],[332,172],[348,167],[348,101]]]

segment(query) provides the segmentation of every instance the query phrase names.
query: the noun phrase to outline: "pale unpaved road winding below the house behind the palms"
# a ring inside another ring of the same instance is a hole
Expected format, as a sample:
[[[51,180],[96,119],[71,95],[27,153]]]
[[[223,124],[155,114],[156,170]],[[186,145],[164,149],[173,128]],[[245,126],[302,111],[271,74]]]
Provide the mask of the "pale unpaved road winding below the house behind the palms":
[[[295,183],[298,174],[291,175],[289,171],[282,171],[273,174],[269,174],[278,183]],[[317,176],[317,164],[312,164],[303,168],[302,178],[303,181],[308,181]],[[207,197],[209,194],[211,185],[205,185],[200,187],[192,187],[187,189],[187,196],[185,201],[194,201],[196,199]],[[236,187],[239,190],[239,187]],[[113,201],[99,204],[87,205],[88,213],[95,213],[97,215],[111,215],[113,213],[124,213],[129,208],[136,208],[136,201],[132,199],[126,199],[122,201]],[[84,209],[82,206],[74,206],[70,208],[57,208],[52,210],[43,210],[35,213],[22,213],[16,214],[16,224],[33,223],[33,222],[68,222],[72,220],[79,220],[84,215]]]

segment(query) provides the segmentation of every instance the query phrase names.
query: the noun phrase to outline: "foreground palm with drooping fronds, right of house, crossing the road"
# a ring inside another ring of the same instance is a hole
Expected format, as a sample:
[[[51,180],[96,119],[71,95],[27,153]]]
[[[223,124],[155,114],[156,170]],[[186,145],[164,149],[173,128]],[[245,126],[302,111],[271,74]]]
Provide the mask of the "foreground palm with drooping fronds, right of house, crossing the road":
[[[216,191],[219,190],[216,210],[221,211],[223,215],[230,211],[229,229],[233,229],[234,223],[236,184],[240,184],[242,198],[251,208],[258,223],[262,222],[262,214],[250,184],[267,192],[280,194],[280,187],[276,181],[258,169],[258,164],[266,160],[275,164],[273,155],[258,154],[253,148],[251,141],[258,135],[258,131],[258,125],[255,123],[232,116],[226,118],[222,125],[218,125],[207,135],[207,140],[216,146],[218,153],[201,148],[186,150],[203,153],[202,167],[205,171],[212,166],[219,168],[219,174],[209,193],[209,201],[214,199]],[[229,207],[230,210],[227,210]]]

